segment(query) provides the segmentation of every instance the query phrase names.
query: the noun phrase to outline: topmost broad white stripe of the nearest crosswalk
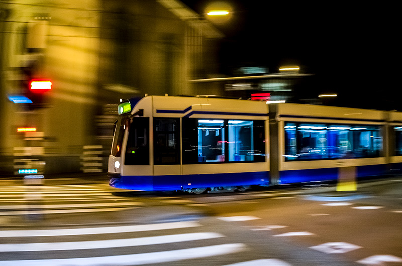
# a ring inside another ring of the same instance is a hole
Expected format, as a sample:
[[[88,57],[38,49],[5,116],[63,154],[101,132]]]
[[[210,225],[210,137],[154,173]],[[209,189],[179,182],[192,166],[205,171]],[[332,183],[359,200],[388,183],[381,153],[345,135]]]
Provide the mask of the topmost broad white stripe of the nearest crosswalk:
[[[157,223],[143,225],[126,225],[111,227],[91,227],[91,228],[73,228],[73,229],[50,229],[50,230],[5,230],[0,237],[37,237],[37,236],[62,236],[62,235],[88,235],[88,234],[112,234],[168,230],[188,227],[199,227],[198,222],[173,222]],[[1,263],[0,263],[1,265]]]

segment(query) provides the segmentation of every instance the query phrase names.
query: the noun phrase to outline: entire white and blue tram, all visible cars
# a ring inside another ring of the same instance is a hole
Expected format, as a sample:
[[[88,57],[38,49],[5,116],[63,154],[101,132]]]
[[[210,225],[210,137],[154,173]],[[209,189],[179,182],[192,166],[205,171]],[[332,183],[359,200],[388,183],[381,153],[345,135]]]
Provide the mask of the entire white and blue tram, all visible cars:
[[[402,113],[318,105],[146,96],[118,106],[110,185],[244,191],[382,175],[402,165]]]

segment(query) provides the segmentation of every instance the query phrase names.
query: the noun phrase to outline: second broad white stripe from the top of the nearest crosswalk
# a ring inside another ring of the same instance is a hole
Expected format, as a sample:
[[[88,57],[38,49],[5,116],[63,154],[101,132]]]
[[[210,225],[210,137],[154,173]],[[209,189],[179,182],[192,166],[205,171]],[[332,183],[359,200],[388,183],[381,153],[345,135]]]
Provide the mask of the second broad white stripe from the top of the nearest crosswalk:
[[[81,250],[97,248],[115,248],[126,246],[157,245],[185,241],[196,241],[224,237],[218,233],[188,233],[175,235],[161,235],[140,238],[112,239],[101,241],[29,243],[29,244],[0,244],[0,252],[30,252],[30,251],[56,251]]]

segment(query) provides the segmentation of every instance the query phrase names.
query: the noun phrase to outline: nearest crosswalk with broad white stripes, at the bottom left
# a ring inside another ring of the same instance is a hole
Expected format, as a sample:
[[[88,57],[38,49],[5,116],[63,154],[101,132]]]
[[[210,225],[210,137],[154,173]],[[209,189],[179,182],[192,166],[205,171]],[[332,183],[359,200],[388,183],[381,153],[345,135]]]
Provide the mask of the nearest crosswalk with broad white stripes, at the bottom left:
[[[102,236],[102,240],[88,240],[96,239],[99,235]],[[131,237],[133,235],[135,237]],[[72,237],[79,237],[80,240],[63,241]],[[174,265],[189,265],[194,259],[208,259],[211,265],[227,266],[291,265],[275,258],[240,260],[231,264],[214,263],[214,260],[230,261],[233,254],[246,253],[250,251],[250,247],[241,242],[230,241],[222,233],[208,231],[198,221],[91,228],[3,230],[0,234],[0,243],[2,266],[122,266],[169,262]],[[21,259],[16,259],[20,257]]]

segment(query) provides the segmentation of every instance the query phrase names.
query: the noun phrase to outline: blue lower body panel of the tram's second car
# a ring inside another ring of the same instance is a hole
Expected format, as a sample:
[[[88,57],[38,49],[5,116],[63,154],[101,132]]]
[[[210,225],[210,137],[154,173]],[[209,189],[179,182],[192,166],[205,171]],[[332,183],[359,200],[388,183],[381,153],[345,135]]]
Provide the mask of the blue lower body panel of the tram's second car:
[[[386,173],[385,165],[356,166],[356,177],[382,175]],[[318,168],[287,170],[280,172],[279,184],[291,184],[338,179],[339,168]]]

